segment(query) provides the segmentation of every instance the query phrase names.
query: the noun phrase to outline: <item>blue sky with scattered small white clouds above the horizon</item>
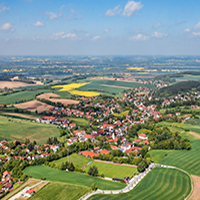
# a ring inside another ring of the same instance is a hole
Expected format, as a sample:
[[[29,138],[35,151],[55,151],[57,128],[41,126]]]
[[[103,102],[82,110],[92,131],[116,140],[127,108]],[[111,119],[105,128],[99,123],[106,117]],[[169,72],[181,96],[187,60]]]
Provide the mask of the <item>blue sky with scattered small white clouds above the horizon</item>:
[[[0,55],[200,55],[199,0],[0,0]]]

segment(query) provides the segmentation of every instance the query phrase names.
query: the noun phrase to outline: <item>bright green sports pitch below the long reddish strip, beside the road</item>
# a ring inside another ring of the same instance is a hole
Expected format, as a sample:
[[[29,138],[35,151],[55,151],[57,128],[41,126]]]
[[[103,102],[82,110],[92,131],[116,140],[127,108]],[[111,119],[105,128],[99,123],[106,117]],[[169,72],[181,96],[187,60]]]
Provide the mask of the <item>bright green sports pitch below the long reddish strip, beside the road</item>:
[[[122,165],[113,165],[107,163],[93,162],[88,165],[84,170],[88,171],[91,166],[98,168],[99,174],[104,174],[105,177],[109,178],[124,178],[126,176],[131,177],[137,170],[135,167],[127,167]]]

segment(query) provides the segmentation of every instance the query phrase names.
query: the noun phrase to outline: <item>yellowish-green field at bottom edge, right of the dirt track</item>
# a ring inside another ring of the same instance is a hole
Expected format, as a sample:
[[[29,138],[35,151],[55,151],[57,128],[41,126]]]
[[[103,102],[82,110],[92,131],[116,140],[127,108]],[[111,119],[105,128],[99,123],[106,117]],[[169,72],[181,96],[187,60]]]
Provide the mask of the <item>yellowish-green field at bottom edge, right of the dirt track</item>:
[[[85,193],[89,192],[90,188],[77,186],[67,183],[51,182],[44,188],[35,193],[31,200],[74,200],[79,199]]]

